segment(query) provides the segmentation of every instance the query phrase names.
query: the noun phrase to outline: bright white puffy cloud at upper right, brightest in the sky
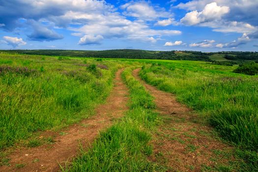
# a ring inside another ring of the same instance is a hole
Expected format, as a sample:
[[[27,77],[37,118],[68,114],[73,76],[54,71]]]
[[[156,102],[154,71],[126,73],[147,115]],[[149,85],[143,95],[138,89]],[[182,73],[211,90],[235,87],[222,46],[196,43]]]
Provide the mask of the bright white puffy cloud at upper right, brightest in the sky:
[[[228,6],[218,6],[216,2],[207,4],[201,12],[188,12],[180,21],[185,25],[197,25],[200,23],[219,20],[225,14],[229,13]]]

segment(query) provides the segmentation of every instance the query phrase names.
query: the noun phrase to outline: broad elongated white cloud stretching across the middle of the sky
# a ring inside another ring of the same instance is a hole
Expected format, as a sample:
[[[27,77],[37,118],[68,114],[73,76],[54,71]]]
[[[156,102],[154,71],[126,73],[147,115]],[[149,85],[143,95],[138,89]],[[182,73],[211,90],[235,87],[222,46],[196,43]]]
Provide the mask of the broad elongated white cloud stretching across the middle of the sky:
[[[156,42],[157,38],[164,35],[179,35],[179,30],[156,30],[150,29],[148,25],[138,21],[130,21],[121,16],[104,17],[100,21],[92,21],[81,28],[69,28],[75,31],[73,35],[101,35],[104,39],[125,38],[135,41]]]

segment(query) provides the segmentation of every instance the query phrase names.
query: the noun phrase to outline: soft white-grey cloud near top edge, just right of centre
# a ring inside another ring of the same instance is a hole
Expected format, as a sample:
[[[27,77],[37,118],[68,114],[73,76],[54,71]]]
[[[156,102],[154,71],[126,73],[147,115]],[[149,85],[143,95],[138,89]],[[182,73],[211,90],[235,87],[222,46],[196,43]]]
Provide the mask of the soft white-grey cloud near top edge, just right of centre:
[[[159,17],[168,17],[170,15],[165,9],[157,6],[154,9],[153,6],[145,1],[131,1],[120,7],[121,9],[126,10],[123,12],[125,16],[132,16],[147,21],[155,20]]]

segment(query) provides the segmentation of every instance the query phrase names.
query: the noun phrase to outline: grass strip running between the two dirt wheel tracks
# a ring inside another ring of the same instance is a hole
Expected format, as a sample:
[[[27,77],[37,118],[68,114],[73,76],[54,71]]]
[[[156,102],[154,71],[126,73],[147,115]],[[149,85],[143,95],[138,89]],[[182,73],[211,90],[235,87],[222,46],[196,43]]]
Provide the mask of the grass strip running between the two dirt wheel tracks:
[[[145,88],[133,78],[131,69],[122,73],[123,80],[130,89],[129,111],[126,115],[102,132],[89,151],[81,151],[69,172],[149,172],[162,171],[161,167],[146,160],[152,153],[148,144],[149,130],[155,126],[157,114],[153,112],[153,98]]]

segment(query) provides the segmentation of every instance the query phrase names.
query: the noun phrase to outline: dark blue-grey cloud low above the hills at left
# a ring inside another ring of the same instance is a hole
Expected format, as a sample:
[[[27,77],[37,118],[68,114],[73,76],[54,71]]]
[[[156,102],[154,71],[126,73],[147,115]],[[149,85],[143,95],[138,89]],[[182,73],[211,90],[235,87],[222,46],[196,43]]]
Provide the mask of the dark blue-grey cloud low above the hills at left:
[[[29,39],[32,41],[53,41],[63,38],[62,35],[58,34],[54,30],[48,29],[35,21],[31,20],[28,23],[33,28],[33,32],[28,35]]]

